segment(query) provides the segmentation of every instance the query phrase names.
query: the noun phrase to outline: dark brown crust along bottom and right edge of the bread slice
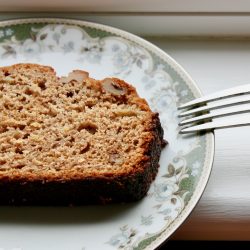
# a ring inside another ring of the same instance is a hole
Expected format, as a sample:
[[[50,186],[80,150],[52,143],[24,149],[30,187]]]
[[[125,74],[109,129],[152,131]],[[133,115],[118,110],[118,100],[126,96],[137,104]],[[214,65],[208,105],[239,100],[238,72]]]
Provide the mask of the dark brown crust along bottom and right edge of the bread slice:
[[[51,68],[48,70],[53,71]],[[141,109],[152,113],[152,119],[146,128],[150,136],[143,144],[144,155],[137,165],[130,172],[114,175],[79,175],[74,178],[70,176],[55,178],[49,175],[47,178],[38,178],[34,175],[16,174],[0,176],[1,205],[107,204],[136,201],[146,195],[158,171],[158,162],[164,145],[163,129],[158,113],[153,113],[146,101],[138,97],[135,88],[122,80],[113,79],[120,86],[127,88],[133,97],[130,102],[134,101]],[[102,87],[101,81],[93,80],[93,82],[92,86]],[[125,97],[127,95],[124,95],[121,101],[124,102]]]

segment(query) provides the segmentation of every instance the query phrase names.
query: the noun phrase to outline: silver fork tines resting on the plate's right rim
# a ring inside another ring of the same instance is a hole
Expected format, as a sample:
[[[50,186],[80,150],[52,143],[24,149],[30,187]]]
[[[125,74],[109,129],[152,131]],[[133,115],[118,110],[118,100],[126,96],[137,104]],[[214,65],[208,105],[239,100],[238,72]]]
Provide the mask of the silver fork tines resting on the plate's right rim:
[[[179,117],[185,117],[179,123],[180,133],[250,125],[250,116],[234,117],[236,114],[250,112],[250,106],[239,105],[247,103],[250,103],[250,84],[219,91],[185,103],[178,107],[186,109],[179,114]],[[232,116],[232,119],[226,121],[216,119],[224,116]]]

